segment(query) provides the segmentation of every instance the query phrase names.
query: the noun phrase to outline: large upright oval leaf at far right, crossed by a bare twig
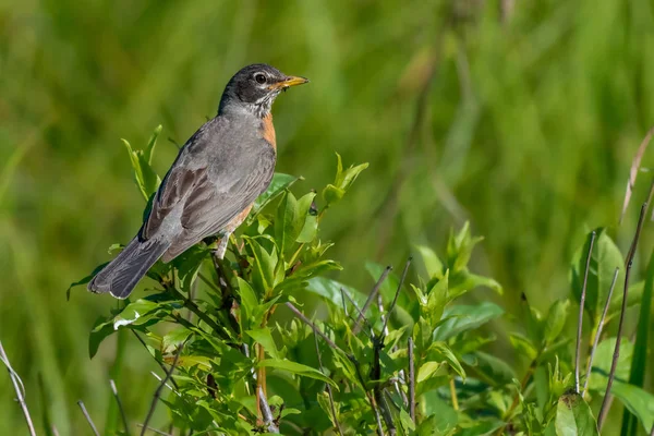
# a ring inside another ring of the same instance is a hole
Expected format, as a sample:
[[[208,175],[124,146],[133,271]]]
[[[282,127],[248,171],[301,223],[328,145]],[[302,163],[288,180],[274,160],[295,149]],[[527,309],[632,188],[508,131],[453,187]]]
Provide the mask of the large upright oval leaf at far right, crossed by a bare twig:
[[[608,290],[613,281],[613,276],[616,268],[621,268],[625,264],[622,254],[615,242],[606,233],[606,229],[596,230],[596,239],[591,255],[589,268],[589,278],[586,286],[585,310],[591,315],[591,319],[596,320],[598,314],[602,313]],[[591,242],[591,233],[588,234],[585,243],[574,254],[572,262],[572,292],[576,301],[581,301],[581,290],[583,288],[583,277],[585,272],[586,256]],[[623,277],[623,271],[620,270],[618,283]],[[621,301],[621,293],[615,292],[614,301]]]

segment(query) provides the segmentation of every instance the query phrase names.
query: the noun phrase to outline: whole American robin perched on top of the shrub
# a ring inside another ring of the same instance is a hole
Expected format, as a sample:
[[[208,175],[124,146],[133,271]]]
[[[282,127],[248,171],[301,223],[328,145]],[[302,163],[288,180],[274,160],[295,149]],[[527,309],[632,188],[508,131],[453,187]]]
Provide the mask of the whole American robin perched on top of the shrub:
[[[263,63],[239,71],[225,87],[216,118],[180,149],[136,237],[88,290],[125,299],[157,259],[168,263],[214,234],[221,235],[216,255],[222,258],[229,235],[272,180],[272,102],[306,82]]]

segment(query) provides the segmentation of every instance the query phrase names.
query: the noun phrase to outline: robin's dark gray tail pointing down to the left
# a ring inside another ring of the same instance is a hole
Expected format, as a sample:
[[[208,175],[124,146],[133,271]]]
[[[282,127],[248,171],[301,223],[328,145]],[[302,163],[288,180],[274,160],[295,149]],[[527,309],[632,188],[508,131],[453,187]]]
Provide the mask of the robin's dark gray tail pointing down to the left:
[[[96,293],[109,292],[117,299],[126,299],[145,276],[147,270],[168,250],[170,243],[161,241],[140,241],[138,237],[98,272],[88,283],[88,290]]]

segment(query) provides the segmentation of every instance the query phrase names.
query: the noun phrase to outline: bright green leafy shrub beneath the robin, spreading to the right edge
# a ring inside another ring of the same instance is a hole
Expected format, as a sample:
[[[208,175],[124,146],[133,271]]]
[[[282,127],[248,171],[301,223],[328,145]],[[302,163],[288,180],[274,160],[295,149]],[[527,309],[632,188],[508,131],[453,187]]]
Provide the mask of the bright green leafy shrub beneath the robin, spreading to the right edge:
[[[150,167],[159,132],[143,152],[125,142],[146,202],[160,183]],[[546,315],[524,302],[525,323],[509,337],[528,362],[519,375],[517,365],[484,351],[496,339],[488,324],[504,310],[489,301],[460,301],[483,287],[502,292],[495,280],[469,269],[481,238],[468,225],[450,234],[440,255],[415,249],[427,272],[416,282],[407,280],[414,276],[408,275],[411,259],[401,275],[368,263],[376,281],[368,294],[331,278],[341,266],[328,257],[332,243],[320,239],[320,223],[366,167],[343,169],[337,155],[335,180],[322,195],[296,195],[301,179],[275,174],[232,235],[225,261],[213,257],[211,239],[168,265],[156,264],[147,296],[125,300],[96,323],[90,356],[117,330],[132,330],[171,377],[161,401],[174,427],[195,435],[597,434],[578,391],[588,400],[605,393],[616,343],[615,337],[595,341],[598,326],[618,317],[621,306],[616,295],[602,317],[614,275],[623,275],[625,264],[607,232],[589,234],[571,268],[576,300],[586,282],[584,308],[593,326],[588,349],[595,356],[590,378],[582,377],[584,388],[576,389],[573,380],[569,300],[556,301]],[[651,288],[651,276],[631,286],[627,305]],[[307,294],[324,304],[303,305]],[[654,397],[642,382],[627,383],[633,343],[622,340],[620,351],[611,392],[633,413],[626,422],[634,416],[649,431]]]

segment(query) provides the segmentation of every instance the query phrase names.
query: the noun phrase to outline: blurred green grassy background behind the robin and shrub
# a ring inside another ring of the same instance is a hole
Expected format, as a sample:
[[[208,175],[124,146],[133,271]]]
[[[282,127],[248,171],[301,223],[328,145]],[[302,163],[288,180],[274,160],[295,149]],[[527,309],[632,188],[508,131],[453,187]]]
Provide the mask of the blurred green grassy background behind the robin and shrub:
[[[413,244],[440,247],[470,220],[486,237],[474,268],[505,286],[502,304],[520,319],[521,293],[546,310],[569,292],[589,227],[611,226],[628,247],[638,205],[617,223],[631,159],[654,124],[653,8],[0,0],[0,339],[38,426],[49,412],[60,435],[85,434],[77,399],[101,426],[109,377],[130,413],[145,415],[156,386],[157,367],[132,337],[119,339],[122,372],[114,339],[88,360],[88,331],[111,298],[77,289],[65,301],[69,283],[140,226],[121,137],[140,148],[162,124],[164,173],[172,141],[215,113],[239,68],[307,76],[275,107],[278,171],[304,175],[306,191],[331,180],[335,152],[371,164],[325,220],[339,279],[366,289],[365,261],[400,265]],[[639,181],[635,202],[647,174]],[[652,241],[645,230],[637,271]],[[10,389],[0,376],[2,435],[24,428]]]

